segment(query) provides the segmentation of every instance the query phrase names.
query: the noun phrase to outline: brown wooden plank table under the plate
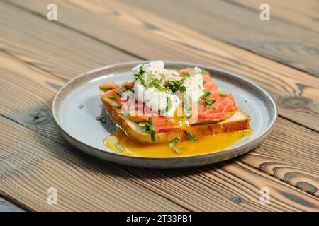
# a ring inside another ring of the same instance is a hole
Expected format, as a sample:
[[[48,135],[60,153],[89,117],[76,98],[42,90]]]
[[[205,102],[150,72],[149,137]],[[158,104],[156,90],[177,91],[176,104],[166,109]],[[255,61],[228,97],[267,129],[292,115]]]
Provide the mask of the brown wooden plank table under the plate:
[[[47,20],[51,3],[57,21]],[[0,210],[318,211],[319,3],[267,0],[270,21],[259,19],[262,3],[0,0]],[[258,83],[279,108],[272,136],[234,160],[179,170],[114,165],[69,145],[50,114],[57,90],[138,59],[207,64]],[[47,204],[50,187],[57,205]]]

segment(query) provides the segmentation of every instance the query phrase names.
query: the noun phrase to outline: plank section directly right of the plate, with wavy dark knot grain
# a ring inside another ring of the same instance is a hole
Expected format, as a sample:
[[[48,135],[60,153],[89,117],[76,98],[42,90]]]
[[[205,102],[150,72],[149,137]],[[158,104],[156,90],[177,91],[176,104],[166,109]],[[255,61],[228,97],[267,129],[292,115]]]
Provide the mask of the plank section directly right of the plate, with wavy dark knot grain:
[[[279,118],[272,135],[238,160],[319,197],[319,136]]]

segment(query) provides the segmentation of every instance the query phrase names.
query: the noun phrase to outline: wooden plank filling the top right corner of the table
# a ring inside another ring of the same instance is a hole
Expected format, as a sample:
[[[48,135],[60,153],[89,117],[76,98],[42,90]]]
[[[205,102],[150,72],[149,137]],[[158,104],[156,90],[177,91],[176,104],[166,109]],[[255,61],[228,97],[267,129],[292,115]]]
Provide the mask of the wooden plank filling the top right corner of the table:
[[[271,16],[286,20],[289,23],[299,25],[308,30],[319,32],[319,2],[318,0],[290,0],[278,1],[268,0],[228,0],[234,4],[250,8],[253,11],[259,11],[263,3],[270,6]]]

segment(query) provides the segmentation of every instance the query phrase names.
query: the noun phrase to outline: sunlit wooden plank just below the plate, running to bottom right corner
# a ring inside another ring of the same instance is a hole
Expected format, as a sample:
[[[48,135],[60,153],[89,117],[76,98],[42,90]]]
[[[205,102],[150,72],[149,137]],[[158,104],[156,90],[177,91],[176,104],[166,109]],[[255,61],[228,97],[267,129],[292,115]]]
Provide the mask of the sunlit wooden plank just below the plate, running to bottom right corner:
[[[296,196],[300,193],[292,194],[284,188],[279,189],[280,185],[276,181],[237,161],[174,171],[138,169],[133,174],[145,186],[154,186],[154,189],[159,191],[169,191],[171,200],[184,201],[189,208],[197,207],[201,211],[229,211],[234,208],[239,211],[294,211],[300,204],[308,206],[308,210],[311,208],[318,211],[318,198],[311,203],[304,202],[303,198]],[[262,187],[267,187],[271,191],[272,205],[260,205],[259,189]],[[235,205],[231,209],[227,207],[230,203]],[[303,206],[299,210],[306,208]]]

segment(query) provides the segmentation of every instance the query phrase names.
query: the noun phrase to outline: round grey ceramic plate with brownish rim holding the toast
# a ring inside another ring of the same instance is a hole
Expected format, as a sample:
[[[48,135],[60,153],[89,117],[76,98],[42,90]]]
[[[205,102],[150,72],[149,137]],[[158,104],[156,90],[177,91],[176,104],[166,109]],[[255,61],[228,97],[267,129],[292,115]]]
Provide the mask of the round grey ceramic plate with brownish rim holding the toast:
[[[209,66],[177,61],[165,61],[167,69],[182,69],[199,66],[209,71],[214,81],[235,97],[238,107],[250,116],[253,133],[229,148],[203,155],[183,157],[135,157],[113,153],[103,145],[103,138],[116,129],[113,121],[103,109],[99,98],[99,84],[105,81],[123,83],[133,80],[130,69],[147,61],[135,61],[104,66],[83,73],[69,81],[55,96],[52,115],[62,135],[69,143],[103,160],[123,165],[150,168],[179,168],[208,165],[228,160],[256,148],[272,131],[276,121],[276,105],[272,97],[258,85],[233,73]],[[106,117],[107,123],[101,124],[97,116]]]

